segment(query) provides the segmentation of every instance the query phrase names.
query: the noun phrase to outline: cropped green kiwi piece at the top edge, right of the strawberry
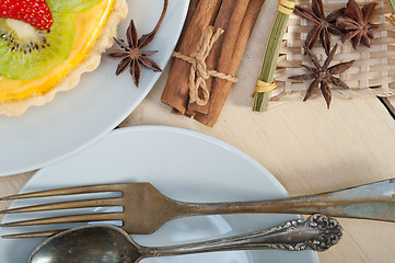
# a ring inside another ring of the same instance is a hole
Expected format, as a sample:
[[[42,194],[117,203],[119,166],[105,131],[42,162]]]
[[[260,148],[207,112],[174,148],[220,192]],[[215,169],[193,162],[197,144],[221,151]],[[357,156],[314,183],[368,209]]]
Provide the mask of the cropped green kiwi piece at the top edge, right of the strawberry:
[[[102,0],[47,0],[47,3],[53,12],[74,13],[85,11],[100,1]]]

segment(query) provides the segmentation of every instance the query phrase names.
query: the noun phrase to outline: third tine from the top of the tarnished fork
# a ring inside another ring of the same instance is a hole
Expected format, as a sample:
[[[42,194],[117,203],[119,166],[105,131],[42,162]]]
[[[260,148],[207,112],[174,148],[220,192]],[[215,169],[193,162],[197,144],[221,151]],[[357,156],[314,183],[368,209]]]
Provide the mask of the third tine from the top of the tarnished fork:
[[[60,217],[38,218],[24,221],[13,221],[1,224],[0,227],[24,227],[36,225],[50,224],[68,224],[68,222],[86,222],[86,221],[113,221],[123,220],[123,213],[102,213],[102,214],[86,214],[86,215],[71,215]]]

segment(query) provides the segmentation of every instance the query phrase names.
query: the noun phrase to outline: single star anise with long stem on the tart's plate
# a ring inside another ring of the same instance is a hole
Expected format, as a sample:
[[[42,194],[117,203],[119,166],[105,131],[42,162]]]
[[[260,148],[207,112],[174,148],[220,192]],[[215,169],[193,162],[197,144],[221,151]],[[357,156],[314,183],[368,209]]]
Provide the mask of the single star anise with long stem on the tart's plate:
[[[139,87],[140,77],[141,77],[140,65],[142,65],[146,68],[152,69],[155,72],[162,71],[162,69],[158,66],[158,64],[148,57],[158,53],[158,50],[155,52],[143,50],[143,48],[147,47],[153,41],[166,13],[167,4],[169,4],[169,0],[164,0],[162,15],[155,28],[153,28],[151,33],[142,35],[140,38],[138,38],[135,22],[133,20],[131,20],[128,30],[126,32],[127,43],[125,43],[125,41],[123,39],[118,39],[114,37],[114,41],[118,44],[119,47],[123,48],[123,49],[107,52],[107,56],[112,58],[121,59],[115,72],[116,76],[124,72],[125,69],[129,66],[133,82],[137,87]]]

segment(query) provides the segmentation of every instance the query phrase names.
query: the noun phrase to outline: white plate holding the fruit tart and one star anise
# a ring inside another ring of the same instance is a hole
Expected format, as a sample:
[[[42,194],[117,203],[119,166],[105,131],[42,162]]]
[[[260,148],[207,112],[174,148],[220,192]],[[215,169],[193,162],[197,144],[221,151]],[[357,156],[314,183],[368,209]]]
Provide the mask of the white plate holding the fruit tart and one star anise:
[[[139,36],[152,31],[162,12],[162,0],[127,0],[128,18],[119,25],[125,39],[130,19]],[[147,49],[164,68],[187,12],[186,0],[172,0],[162,27]],[[43,168],[88,146],[115,128],[146,98],[160,73],[143,69],[139,88],[128,71],[116,77],[118,60],[103,58],[101,66],[81,78],[79,87],[57,94],[51,103],[31,107],[19,117],[0,115],[0,176]]]

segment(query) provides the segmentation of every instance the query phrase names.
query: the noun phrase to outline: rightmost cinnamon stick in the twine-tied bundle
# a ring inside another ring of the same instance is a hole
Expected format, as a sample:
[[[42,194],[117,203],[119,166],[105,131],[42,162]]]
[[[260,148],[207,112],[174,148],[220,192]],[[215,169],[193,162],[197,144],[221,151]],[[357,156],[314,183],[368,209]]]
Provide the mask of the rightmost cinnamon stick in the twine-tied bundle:
[[[235,76],[242,61],[245,48],[249,41],[251,34],[253,32],[256,20],[259,15],[260,9],[264,4],[265,0],[251,0],[245,11],[245,15],[243,22],[240,26],[239,34],[234,37],[234,32],[232,33],[232,37],[230,37],[229,43],[234,43],[233,48],[228,47],[226,49],[223,47],[220,60],[218,64],[217,71],[225,72],[228,75]],[[230,31],[228,31],[230,32]],[[225,45],[225,42],[223,43]],[[228,53],[229,49],[232,49],[232,53]],[[233,55],[230,55],[233,54]],[[213,127],[218,121],[218,117],[222,111],[222,107],[226,101],[228,94],[232,87],[232,82],[214,79],[213,85],[211,88],[210,94],[210,108],[208,114],[197,114],[195,119],[207,125]]]

